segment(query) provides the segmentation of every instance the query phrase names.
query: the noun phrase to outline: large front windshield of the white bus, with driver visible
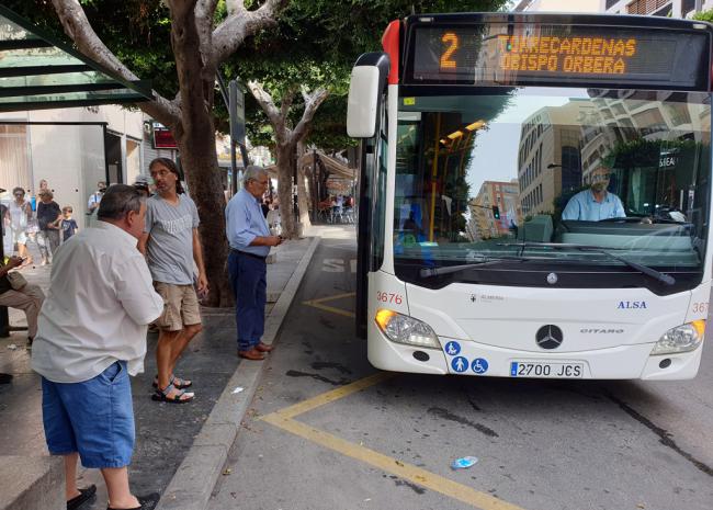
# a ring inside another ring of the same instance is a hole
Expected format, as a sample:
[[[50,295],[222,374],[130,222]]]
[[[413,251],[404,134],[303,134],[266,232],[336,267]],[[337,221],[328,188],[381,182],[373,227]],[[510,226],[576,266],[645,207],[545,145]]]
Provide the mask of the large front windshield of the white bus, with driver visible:
[[[702,271],[708,94],[484,92],[399,98],[397,273],[516,257],[589,272],[624,265],[608,252]]]

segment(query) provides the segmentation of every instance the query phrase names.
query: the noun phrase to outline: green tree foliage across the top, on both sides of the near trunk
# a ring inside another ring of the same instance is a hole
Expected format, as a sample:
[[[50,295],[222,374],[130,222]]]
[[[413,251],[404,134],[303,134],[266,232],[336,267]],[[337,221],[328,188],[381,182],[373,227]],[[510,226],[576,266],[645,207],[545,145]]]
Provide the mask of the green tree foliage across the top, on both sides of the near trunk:
[[[66,38],[49,0],[5,0],[7,7],[54,35]],[[178,93],[176,61],[171,48],[171,18],[161,0],[80,0],[87,18],[106,46],[166,98]],[[261,2],[247,1],[251,8]],[[353,143],[344,133],[346,95],[356,57],[378,50],[386,25],[411,12],[494,11],[507,0],[292,0],[278,25],[246,39],[219,71],[226,79],[240,76],[260,80],[276,98],[296,83],[327,87],[330,97],[315,115],[308,143],[338,149]],[[219,0],[216,21],[227,15]],[[250,94],[246,95],[248,134],[256,145],[272,145],[267,116]],[[227,110],[215,102],[216,127],[227,133]],[[299,109],[291,113],[296,122]]]

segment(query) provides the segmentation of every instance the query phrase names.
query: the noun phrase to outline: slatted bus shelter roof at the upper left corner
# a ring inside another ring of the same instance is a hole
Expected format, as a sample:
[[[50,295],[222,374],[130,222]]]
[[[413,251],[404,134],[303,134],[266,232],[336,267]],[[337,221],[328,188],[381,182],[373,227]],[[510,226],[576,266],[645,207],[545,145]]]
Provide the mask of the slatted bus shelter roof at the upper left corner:
[[[151,99],[148,81],[116,76],[0,5],[0,112]]]

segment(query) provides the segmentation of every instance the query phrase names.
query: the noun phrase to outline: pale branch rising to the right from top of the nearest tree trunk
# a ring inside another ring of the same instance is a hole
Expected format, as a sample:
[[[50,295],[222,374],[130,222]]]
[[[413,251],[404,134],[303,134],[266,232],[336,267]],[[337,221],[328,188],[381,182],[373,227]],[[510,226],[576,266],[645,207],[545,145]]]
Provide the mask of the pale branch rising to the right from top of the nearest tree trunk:
[[[246,37],[265,26],[274,25],[274,14],[288,0],[267,0],[258,10],[248,11],[242,0],[228,1],[233,13],[213,31],[214,64],[217,66],[242,44]]]

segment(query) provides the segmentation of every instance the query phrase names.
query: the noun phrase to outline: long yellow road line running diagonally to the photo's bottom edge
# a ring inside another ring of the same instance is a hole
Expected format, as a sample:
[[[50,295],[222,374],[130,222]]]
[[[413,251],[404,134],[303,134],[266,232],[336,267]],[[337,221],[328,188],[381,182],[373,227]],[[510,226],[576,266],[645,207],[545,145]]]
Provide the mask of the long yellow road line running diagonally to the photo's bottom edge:
[[[450,498],[457,499],[459,501],[463,501],[464,503],[479,508],[480,510],[523,510],[521,507],[511,505],[440,475],[427,472],[420,467],[397,461],[396,458],[389,457],[374,450],[350,443],[349,441],[325,432],[324,430],[315,429],[314,427],[287,418],[281,412],[268,415],[263,417],[262,420],[337,453],[370,464],[405,480],[418,484],[421,487],[434,490]]]

